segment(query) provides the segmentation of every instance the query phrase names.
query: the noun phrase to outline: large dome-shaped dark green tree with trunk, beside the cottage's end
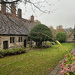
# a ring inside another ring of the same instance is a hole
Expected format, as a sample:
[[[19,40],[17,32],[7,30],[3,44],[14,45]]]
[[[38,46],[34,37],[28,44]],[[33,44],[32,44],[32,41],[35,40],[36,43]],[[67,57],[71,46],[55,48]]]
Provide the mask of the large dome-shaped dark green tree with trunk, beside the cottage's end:
[[[38,24],[30,31],[29,37],[36,45],[42,46],[43,41],[52,40],[52,32],[47,26]]]

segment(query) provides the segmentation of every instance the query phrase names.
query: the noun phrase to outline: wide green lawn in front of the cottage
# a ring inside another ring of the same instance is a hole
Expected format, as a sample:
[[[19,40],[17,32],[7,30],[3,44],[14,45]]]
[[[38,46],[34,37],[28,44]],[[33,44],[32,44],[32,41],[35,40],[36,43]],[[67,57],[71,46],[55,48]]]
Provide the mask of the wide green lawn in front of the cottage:
[[[74,48],[72,43],[28,51],[0,59],[0,75],[48,75],[63,55]]]

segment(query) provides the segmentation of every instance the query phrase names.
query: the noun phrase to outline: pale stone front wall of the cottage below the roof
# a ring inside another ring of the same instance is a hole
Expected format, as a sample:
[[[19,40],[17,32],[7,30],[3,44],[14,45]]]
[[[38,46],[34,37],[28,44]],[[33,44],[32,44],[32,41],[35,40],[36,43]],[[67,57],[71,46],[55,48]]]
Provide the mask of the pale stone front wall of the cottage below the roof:
[[[10,37],[14,37],[14,43],[10,43]],[[22,37],[22,42],[19,42],[19,37]],[[0,50],[3,49],[3,42],[8,41],[8,48],[24,47],[26,36],[0,36]]]

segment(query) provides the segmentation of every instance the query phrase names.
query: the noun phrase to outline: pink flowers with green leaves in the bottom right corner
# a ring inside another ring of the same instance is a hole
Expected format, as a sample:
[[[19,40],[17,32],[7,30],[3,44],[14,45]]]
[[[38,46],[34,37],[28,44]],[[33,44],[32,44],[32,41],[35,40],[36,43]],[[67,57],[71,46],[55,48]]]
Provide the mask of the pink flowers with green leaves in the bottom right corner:
[[[64,61],[60,61],[61,75],[75,75],[75,53],[64,55]]]

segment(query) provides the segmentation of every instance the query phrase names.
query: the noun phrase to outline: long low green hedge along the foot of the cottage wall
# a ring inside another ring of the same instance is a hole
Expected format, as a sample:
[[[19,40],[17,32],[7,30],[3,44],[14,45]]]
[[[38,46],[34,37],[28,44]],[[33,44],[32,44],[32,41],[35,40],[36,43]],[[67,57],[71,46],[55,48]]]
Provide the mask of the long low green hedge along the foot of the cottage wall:
[[[4,56],[17,55],[25,52],[26,52],[25,48],[13,48],[13,49],[0,50],[0,58]]]

